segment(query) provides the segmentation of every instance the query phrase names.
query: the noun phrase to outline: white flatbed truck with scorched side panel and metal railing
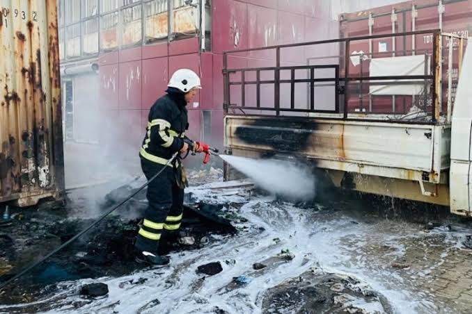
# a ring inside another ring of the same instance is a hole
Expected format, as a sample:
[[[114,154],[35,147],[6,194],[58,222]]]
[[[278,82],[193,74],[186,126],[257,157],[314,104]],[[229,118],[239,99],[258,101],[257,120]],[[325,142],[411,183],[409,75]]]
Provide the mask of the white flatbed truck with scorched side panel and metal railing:
[[[392,50],[393,42],[423,36],[432,40]],[[338,188],[470,217],[467,41],[437,28],[225,51],[226,154],[302,156]],[[361,51],[372,42],[375,51]],[[340,53],[323,56],[327,51]],[[263,66],[235,67],[233,56],[242,53],[267,58]],[[224,170],[227,180],[237,176],[229,165]]]

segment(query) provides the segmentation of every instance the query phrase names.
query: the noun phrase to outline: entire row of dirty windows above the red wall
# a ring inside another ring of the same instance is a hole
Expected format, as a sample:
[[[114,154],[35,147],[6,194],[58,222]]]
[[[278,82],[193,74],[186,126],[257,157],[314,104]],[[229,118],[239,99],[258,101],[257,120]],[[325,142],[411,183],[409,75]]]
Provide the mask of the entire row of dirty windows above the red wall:
[[[168,38],[171,16],[173,35],[194,36],[200,24],[200,0],[57,1],[61,60]]]

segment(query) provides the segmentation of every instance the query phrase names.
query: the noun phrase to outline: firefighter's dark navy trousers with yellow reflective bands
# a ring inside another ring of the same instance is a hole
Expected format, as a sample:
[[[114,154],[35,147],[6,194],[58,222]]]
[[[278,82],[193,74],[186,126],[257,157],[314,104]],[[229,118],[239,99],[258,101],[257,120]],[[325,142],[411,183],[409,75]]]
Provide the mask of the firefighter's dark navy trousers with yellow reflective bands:
[[[162,167],[166,169],[148,185],[148,208],[135,243],[139,251],[156,255],[162,233],[179,229],[184,204],[184,190],[177,184],[174,167],[141,158],[141,169],[148,180]]]

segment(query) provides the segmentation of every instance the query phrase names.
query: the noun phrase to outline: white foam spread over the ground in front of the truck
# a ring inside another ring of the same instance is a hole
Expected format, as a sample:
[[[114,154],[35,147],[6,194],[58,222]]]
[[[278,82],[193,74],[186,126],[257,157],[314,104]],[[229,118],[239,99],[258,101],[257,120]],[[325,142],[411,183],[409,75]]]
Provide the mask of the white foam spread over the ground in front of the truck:
[[[198,190],[202,197],[205,192],[214,193],[210,189],[194,190]],[[236,236],[219,236],[217,242],[199,250],[171,254],[170,267],[142,270],[119,278],[60,283],[60,295],[36,304],[54,305],[56,309],[49,313],[213,313],[215,306],[228,313],[261,313],[262,298],[267,289],[318,267],[323,272],[354,276],[361,281],[359,286],[384,295],[394,313],[445,311],[444,306],[438,308],[430,296],[414,290],[396,270],[384,267],[379,256],[370,256],[362,250],[366,245],[384,242],[393,247],[389,258],[402,256],[404,248],[399,241],[414,234],[420,237],[418,227],[409,224],[399,227],[395,222],[352,224],[352,218],[340,210],[324,213],[324,210],[297,208],[291,204],[275,203],[271,197],[244,195],[244,190],[241,195],[246,204],[238,215],[249,220],[245,224],[249,226],[246,231]],[[401,229],[400,233],[398,229]],[[274,242],[274,238],[279,238],[280,242]],[[352,239],[352,242],[346,244],[346,239]],[[226,290],[233,277],[251,273],[253,263],[275,256],[281,249],[290,249],[294,254],[290,263],[282,263],[253,278],[247,286]],[[235,265],[224,263],[229,259],[234,259]],[[197,274],[196,268],[214,261],[221,262],[223,272],[206,276],[201,281],[203,275]],[[141,285],[127,282],[140,278],[148,281]],[[74,308],[71,305],[74,301],[84,301],[78,295],[80,286],[94,282],[107,283],[107,297]],[[155,299],[160,304],[150,306]],[[375,313],[380,306],[376,302],[365,304],[363,300],[356,300],[353,304],[366,313]],[[0,306],[0,312],[8,312],[8,308],[12,306]]]

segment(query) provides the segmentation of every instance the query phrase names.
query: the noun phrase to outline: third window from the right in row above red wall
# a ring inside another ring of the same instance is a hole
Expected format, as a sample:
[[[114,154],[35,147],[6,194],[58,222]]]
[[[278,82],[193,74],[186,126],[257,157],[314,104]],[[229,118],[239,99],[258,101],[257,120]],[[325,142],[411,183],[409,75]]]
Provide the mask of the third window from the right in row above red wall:
[[[121,45],[129,46],[141,43],[141,3],[121,10],[121,16],[123,21]]]

